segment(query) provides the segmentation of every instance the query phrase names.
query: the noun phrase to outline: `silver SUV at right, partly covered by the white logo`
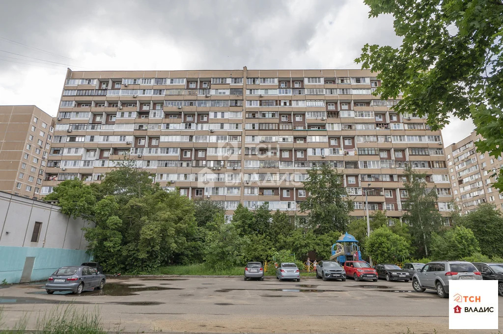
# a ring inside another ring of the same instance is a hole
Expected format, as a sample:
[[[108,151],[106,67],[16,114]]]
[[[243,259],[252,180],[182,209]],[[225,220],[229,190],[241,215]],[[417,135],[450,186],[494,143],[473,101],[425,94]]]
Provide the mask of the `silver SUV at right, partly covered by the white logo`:
[[[437,290],[441,298],[449,296],[449,282],[452,280],[481,280],[477,268],[466,261],[435,261],[427,263],[412,277],[412,287],[417,292],[426,289]]]

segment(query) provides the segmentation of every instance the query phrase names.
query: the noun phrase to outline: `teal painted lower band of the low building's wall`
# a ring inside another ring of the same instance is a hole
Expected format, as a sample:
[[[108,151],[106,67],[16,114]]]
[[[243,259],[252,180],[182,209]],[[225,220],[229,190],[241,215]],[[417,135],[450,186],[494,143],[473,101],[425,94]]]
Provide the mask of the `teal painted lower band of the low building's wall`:
[[[0,246],[0,283],[4,279],[19,283],[26,257],[35,257],[32,281],[45,280],[60,267],[78,266],[92,259],[84,250]]]

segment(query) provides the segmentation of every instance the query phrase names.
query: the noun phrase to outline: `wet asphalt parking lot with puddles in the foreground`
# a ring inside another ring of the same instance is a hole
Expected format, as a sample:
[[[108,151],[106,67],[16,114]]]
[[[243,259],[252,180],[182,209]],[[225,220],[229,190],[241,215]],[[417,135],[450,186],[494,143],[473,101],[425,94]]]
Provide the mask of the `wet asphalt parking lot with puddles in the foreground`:
[[[503,299],[502,297],[499,297]],[[6,326],[60,303],[101,310],[127,332],[466,333],[448,329],[449,299],[405,282],[243,281],[241,277],[110,278],[101,291],[48,295],[43,283],[0,288]],[[499,317],[503,309],[499,308]],[[473,331],[490,333],[493,331]]]

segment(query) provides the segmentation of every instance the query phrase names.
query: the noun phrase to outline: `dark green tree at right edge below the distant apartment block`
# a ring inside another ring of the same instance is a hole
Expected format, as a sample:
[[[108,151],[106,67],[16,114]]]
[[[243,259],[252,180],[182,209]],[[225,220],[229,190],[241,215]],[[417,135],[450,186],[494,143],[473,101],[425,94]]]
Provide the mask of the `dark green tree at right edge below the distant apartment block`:
[[[494,205],[481,204],[454,222],[473,232],[483,255],[503,257],[503,215]]]

